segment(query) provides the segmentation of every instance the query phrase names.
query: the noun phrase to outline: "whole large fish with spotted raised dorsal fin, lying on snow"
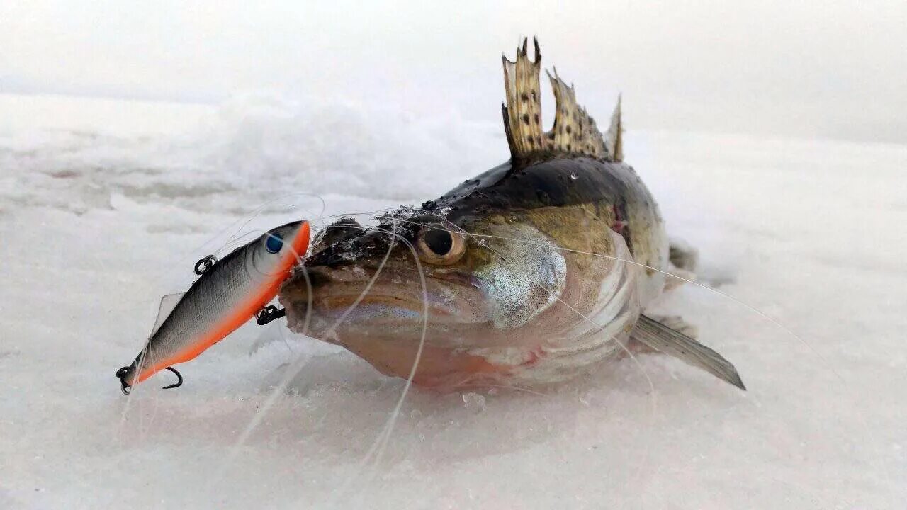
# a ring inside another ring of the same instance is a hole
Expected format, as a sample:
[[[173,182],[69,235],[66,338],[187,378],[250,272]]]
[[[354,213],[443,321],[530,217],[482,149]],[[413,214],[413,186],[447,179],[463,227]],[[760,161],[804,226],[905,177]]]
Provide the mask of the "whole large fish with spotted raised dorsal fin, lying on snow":
[[[620,99],[602,133],[573,85],[546,72],[556,106],[543,132],[533,43],[532,59],[527,39],[502,57],[511,158],[376,226],[343,218],[319,232],[278,294],[289,329],[423,387],[547,385],[660,351],[746,389],[691,329],[645,313],[674,257],[623,161]]]

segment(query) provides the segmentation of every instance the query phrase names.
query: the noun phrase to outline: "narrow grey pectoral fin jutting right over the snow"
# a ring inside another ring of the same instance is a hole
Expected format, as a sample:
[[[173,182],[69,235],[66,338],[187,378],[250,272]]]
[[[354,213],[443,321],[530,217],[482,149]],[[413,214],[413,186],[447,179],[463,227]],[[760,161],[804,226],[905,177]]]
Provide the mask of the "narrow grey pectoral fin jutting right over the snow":
[[[709,374],[746,390],[740,375],[737,374],[736,368],[730,361],[695,339],[689,338],[675,329],[670,329],[655,319],[640,315],[630,337],[649,348],[678,358],[693,367],[702,368]]]

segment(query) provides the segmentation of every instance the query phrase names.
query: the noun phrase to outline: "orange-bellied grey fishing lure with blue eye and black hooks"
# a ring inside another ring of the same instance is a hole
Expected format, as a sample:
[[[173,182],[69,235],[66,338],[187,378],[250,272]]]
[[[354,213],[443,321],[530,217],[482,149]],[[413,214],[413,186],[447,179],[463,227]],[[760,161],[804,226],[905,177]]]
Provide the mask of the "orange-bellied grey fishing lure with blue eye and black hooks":
[[[185,292],[161,299],[151,335],[132,364],[117,370],[123,393],[171,365],[196,358],[262,310],[308,250],[308,221],[268,230],[221,260],[196,264],[200,274]],[[282,310],[281,310],[282,311]]]

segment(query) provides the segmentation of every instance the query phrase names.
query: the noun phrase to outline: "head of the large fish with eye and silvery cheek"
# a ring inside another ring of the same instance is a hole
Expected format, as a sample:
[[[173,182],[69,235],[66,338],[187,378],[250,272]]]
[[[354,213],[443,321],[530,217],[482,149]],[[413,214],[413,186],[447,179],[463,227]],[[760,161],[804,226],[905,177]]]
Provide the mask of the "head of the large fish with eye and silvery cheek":
[[[557,221],[538,211],[339,221],[281,289],[288,325],[391,375],[406,377],[420,352],[421,384],[497,371],[483,352],[539,348],[582,320],[564,299],[600,299],[600,279],[582,275],[610,260],[565,250]]]

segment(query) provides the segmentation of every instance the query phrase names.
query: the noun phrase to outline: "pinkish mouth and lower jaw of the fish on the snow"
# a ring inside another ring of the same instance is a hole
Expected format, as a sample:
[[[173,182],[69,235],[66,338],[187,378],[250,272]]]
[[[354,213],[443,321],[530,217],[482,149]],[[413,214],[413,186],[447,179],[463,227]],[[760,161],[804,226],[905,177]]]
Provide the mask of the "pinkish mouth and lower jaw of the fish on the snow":
[[[508,342],[505,335],[489,334],[495,331],[482,291],[463,278],[441,276],[446,280],[426,274],[423,294],[421,281],[394,268],[377,277],[358,267],[310,268],[312,296],[294,282],[302,278],[297,275],[281,291],[280,302],[289,329],[342,346],[386,376],[413,375],[415,384],[436,389],[503,378],[509,368],[469,353],[476,343]],[[306,321],[300,312],[309,305]]]

